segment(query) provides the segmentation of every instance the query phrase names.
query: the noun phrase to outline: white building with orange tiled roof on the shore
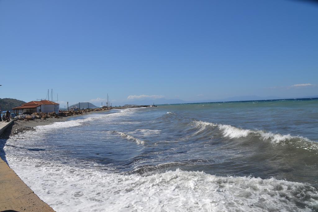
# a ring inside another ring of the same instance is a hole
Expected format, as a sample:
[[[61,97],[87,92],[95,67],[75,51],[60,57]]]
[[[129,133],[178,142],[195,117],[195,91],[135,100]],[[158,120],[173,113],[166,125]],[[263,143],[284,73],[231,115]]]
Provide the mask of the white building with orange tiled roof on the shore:
[[[41,101],[31,101],[22,106],[12,108],[13,111],[17,110],[19,113],[22,110],[22,113],[35,113],[35,112],[43,112],[43,113],[59,113],[59,104],[49,101],[49,100],[41,100]]]

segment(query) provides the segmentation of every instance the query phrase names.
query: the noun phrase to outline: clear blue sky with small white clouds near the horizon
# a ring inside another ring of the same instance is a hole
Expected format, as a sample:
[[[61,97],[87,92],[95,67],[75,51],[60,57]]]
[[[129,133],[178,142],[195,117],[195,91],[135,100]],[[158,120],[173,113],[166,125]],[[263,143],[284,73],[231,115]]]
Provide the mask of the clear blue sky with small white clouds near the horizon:
[[[293,0],[0,0],[0,98],[318,95],[317,21]]]

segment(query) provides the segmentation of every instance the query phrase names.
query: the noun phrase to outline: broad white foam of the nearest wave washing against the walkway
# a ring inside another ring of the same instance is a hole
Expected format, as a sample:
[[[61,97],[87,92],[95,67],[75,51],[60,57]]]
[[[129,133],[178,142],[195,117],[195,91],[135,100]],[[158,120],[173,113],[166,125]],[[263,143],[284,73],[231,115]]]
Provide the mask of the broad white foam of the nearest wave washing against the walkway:
[[[312,211],[317,190],[297,182],[168,171],[150,176],[80,169],[19,155],[10,167],[56,211]],[[28,167],[25,169],[25,167]],[[296,202],[306,207],[299,208]]]

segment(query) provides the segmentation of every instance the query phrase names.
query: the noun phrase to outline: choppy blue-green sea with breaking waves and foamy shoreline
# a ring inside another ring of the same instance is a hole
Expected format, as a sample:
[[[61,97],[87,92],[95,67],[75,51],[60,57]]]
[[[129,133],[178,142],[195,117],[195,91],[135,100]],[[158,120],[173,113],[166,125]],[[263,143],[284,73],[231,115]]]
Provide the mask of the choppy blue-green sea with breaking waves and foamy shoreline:
[[[1,140],[56,211],[318,211],[318,98],[112,109]]]

